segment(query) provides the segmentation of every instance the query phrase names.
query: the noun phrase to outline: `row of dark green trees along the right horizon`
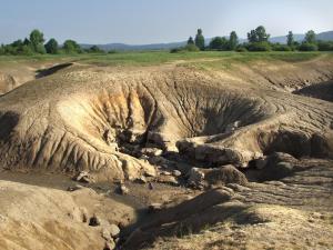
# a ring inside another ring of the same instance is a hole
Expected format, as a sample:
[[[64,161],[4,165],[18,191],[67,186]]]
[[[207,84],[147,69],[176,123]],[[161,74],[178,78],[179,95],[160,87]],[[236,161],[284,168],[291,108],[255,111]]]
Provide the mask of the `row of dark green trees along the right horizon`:
[[[232,31],[229,38],[215,37],[209,44],[205,44],[202,29],[198,29],[195,38],[189,38],[186,46],[182,48],[172,49],[171,52],[179,51],[333,51],[333,41],[321,41],[316,39],[313,30],[305,33],[302,42],[294,39],[292,31],[286,34],[286,44],[273,43],[269,41],[270,34],[263,26],[251,30],[248,33],[248,42],[240,43],[235,31]]]

